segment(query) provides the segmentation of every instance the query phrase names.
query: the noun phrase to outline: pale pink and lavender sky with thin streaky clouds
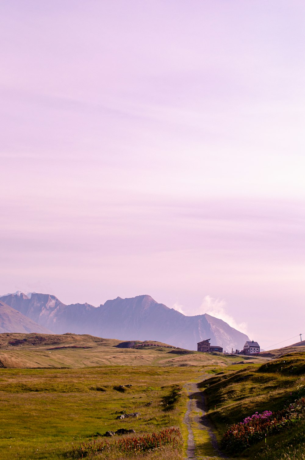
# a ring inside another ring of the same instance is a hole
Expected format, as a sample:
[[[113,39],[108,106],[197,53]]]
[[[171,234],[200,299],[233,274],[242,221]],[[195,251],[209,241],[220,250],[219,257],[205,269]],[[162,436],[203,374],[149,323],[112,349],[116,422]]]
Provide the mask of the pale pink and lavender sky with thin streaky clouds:
[[[149,294],[298,341],[304,23],[301,0],[2,0],[0,294]]]

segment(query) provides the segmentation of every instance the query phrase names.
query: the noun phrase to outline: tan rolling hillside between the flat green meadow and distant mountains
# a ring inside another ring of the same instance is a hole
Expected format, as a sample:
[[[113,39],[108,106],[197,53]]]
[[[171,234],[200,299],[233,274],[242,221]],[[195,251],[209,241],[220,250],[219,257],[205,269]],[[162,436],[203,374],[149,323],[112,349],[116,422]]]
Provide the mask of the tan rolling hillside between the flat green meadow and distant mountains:
[[[121,348],[121,344],[119,340],[87,334],[0,334],[0,367],[217,366],[221,370],[223,366],[240,361],[240,357],[179,350],[160,342],[144,341],[136,348]],[[266,359],[254,358],[254,361],[265,362]]]

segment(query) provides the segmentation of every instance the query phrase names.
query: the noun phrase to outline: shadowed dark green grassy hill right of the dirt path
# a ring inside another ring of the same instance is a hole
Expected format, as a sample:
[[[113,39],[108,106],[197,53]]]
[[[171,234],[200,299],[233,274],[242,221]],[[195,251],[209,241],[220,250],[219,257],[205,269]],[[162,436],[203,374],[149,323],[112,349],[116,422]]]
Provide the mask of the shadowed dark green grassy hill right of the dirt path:
[[[229,441],[224,442],[230,454],[262,460],[305,458],[305,353],[289,353],[236,372],[224,368],[222,375],[199,386],[205,389],[209,417],[219,439],[231,426]],[[246,417],[265,411],[272,412],[269,420],[255,422],[253,428],[247,425],[249,421],[240,426]],[[266,426],[260,433],[263,423]],[[240,447],[243,440],[246,444]]]

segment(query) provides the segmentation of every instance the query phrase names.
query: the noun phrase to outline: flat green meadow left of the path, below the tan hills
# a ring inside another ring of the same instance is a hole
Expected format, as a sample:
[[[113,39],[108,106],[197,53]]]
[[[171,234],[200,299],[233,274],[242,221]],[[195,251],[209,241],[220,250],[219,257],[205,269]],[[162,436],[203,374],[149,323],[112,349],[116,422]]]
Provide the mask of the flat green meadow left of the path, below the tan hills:
[[[106,431],[151,433],[181,426],[186,395],[170,410],[164,398],[173,385],[192,380],[197,369],[99,367],[83,369],[1,369],[1,459],[66,458],[72,443]],[[124,386],[123,392],[113,387]],[[139,412],[137,419],[117,414]]]

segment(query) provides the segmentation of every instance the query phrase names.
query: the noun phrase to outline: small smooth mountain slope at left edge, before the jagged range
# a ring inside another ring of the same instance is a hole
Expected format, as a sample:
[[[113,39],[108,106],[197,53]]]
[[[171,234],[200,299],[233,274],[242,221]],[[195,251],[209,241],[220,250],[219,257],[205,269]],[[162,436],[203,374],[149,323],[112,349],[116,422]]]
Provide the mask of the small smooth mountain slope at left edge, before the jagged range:
[[[37,324],[0,300],[0,334],[4,332],[52,334],[49,329]]]

